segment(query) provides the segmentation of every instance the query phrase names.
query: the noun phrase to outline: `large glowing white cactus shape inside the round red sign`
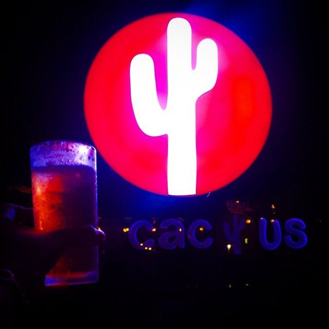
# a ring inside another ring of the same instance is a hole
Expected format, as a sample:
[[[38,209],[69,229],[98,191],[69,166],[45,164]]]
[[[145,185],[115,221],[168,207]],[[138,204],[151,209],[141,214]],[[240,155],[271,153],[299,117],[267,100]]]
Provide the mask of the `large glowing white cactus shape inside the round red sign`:
[[[196,194],[195,102],[211,90],[217,80],[217,46],[211,39],[197,46],[192,69],[192,30],[182,18],[172,19],[167,28],[168,99],[159,104],[154,63],[145,53],[130,65],[131,99],[136,121],[149,136],[168,135],[168,194]]]

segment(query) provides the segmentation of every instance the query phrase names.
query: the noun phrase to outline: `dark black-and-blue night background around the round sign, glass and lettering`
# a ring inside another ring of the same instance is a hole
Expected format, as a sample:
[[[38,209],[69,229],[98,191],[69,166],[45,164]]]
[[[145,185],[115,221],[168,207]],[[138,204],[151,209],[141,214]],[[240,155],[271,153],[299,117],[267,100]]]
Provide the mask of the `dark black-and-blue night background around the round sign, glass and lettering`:
[[[123,321],[155,328],[177,322],[184,327],[194,322],[236,327],[248,321],[261,326],[262,314],[277,324],[285,315],[291,324],[301,321],[301,315],[318,318],[310,306],[316,303],[320,312],[327,213],[327,38],[319,3],[13,2],[3,11],[7,18],[2,61],[3,199],[30,205],[30,195],[13,186],[30,186],[29,148],[34,143],[71,139],[93,144],[83,113],[84,84],[93,59],[120,28],[160,12],[208,17],[231,29],[254,51],[272,92],[273,116],[265,147],[229,186],[209,196],[188,198],[142,191],[112,171],[99,155],[99,215],[108,230],[101,281],[92,287],[50,292],[43,302],[31,303],[27,318],[42,309],[45,318],[56,314],[59,323],[65,314],[67,323],[95,321],[108,327]],[[187,225],[205,218],[221,228],[231,216],[226,209],[230,199],[248,202],[252,218],[271,215],[272,203],[282,223],[301,218],[307,246],[301,250],[280,246],[273,252],[260,251],[258,246],[254,253],[235,258],[217,252],[217,245],[204,253],[187,247],[141,255],[121,230],[127,224],[125,217],[131,221],[182,217]],[[249,290],[244,286],[248,280]],[[229,284],[236,288],[228,288]],[[299,312],[292,313],[295,306]]]

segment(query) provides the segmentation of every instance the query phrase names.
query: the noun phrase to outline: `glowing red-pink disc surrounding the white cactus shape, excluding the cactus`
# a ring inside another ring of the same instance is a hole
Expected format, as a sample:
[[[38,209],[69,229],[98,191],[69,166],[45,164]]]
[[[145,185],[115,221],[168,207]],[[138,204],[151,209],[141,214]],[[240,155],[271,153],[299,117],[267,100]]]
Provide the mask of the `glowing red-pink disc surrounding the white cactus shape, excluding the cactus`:
[[[218,48],[213,89],[196,102],[196,194],[219,189],[239,177],[257,158],[271,121],[271,97],[264,70],[233,32],[196,15],[166,13],[144,17],[110,38],[90,68],[85,86],[89,132],[107,163],[132,184],[168,195],[167,135],[150,137],[136,122],[130,97],[130,63],[149,54],[155,66],[159,103],[167,102],[167,26],[174,17],[192,28],[196,45],[205,38]]]

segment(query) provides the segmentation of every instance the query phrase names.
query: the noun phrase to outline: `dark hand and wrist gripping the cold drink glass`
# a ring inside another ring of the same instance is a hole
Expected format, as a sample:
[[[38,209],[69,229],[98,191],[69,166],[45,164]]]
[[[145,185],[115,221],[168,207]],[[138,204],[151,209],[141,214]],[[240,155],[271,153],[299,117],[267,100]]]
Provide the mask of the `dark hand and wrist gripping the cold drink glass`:
[[[0,211],[0,267],[13,272],[27,292],[44,286],[45,275],[70,246],[97,245],[105,239],[104,232],[91,225],[52,232],[36,230],[32,227],[32,208],[5,204]]]

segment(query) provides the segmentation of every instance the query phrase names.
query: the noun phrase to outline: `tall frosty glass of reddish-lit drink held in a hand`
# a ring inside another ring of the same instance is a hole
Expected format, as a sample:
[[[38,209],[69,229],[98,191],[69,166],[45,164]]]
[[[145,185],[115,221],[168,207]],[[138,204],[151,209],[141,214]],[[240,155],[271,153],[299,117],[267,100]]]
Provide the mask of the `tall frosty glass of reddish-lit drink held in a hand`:
[[[30,149],[35,228],[97,227],[97,175],[94,147],[66,140]],[[45,285],[98,281],[98,246],[67,249],[46,276]]]

